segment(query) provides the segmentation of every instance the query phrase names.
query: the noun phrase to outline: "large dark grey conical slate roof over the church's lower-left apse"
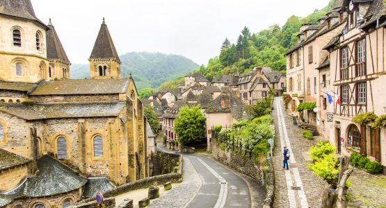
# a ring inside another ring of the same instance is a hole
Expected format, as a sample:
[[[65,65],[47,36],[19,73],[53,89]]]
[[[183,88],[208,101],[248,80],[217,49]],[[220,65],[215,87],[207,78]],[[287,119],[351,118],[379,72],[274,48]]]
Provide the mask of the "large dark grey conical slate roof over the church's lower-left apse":
[[[38,172],[27,179],[16,189],[0,193],[0,207],[8,205],[17,198],[40,198],[77,190],[87,180],[58,160],[45,155],[38,159]]]

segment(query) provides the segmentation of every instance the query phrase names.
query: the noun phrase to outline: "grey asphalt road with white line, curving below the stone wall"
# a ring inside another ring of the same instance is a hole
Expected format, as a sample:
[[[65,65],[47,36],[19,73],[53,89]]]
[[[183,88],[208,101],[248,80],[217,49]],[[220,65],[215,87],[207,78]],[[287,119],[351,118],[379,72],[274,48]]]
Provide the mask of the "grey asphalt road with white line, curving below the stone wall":
[[[250,207],[246,182],[218,162],[201,155],[184,155],[200,175],[202,186],[188,207]]]

